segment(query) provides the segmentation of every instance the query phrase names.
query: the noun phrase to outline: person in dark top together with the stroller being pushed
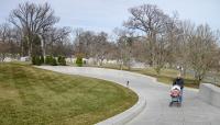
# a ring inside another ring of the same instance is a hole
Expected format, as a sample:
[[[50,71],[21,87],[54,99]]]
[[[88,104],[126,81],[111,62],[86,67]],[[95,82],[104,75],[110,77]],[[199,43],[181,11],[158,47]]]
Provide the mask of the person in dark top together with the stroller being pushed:
[[[182,78],[182,75],[178,73],[177,78],[173,81],[173,88],[170,91],[172,102],[169,103],[169,106],[173,105],[173,102],[177,102],[178,106],[182,105],[183,92],[184,92],[184,79]]]

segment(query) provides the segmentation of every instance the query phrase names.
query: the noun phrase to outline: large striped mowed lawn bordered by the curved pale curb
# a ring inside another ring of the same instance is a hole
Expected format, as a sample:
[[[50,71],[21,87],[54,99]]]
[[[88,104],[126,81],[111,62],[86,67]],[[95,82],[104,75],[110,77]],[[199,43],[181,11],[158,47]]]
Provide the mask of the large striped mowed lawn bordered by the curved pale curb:
[[[1,125],[90,125],[136,101],[133,91],[109,81],[0,64]]]

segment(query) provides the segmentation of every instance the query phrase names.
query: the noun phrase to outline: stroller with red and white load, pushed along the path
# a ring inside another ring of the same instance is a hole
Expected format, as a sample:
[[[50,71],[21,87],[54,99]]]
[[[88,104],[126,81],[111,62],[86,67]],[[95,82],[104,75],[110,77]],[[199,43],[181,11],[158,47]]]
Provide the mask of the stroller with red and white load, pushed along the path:
[[[173,104],[176,104],[177,106],[182,106],[180,95],[182,95],[180,87],[173,86],[173,88],[170,90],[172,101],[169,102],[169,106],[173,106]]]

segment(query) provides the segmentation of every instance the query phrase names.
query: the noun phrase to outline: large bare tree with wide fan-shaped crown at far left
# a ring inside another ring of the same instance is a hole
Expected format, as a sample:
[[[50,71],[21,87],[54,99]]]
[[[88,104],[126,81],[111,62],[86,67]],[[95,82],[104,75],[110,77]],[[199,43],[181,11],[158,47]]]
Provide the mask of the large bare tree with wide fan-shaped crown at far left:
[[[54,16],[54,11],[45,4],[25,2],[12,10],[9,21],[23,32],[28,42],[29,56],[32,56],[33,41],[36,35],[50,30],[58,18]]]

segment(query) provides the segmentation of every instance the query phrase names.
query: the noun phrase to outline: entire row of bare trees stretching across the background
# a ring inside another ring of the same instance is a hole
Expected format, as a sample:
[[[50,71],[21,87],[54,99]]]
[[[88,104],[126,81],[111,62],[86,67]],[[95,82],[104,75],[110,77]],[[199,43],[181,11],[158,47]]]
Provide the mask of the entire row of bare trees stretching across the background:
[[[182,66],[183,73],[191,69],[198,81],[207,71],[220,70],[219,32],[208,24],[182,21],[177,13],[169,15],[155,4],[133,7],[129,12],[123,25],[108,34],[57,27],[59,18],[48,3],[21,3],[0,25],[0,58],[75,55],[92,57],[95,65],[114,59],[129,68],[134,59],[154,67],[158,73],[164,67]]]

